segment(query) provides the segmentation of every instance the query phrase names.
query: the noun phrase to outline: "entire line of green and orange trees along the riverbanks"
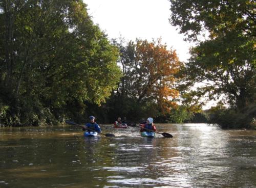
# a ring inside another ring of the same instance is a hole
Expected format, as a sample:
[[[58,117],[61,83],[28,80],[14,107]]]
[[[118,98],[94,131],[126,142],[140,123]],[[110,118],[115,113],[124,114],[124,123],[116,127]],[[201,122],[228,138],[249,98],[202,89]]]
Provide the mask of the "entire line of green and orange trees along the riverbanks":
[[[253,1],[170,2],[170,24],[198,42],[186,63],[161,39],[109,41],[82,1],[0,1],[0,125],[94,115],[255,128]]]

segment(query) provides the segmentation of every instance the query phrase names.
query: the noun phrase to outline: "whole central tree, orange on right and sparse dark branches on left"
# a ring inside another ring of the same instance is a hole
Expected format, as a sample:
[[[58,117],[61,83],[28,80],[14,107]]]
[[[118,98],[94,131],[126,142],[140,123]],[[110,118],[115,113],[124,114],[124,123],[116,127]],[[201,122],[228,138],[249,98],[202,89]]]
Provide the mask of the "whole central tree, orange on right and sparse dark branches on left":
[[[176,52],[166,49],[160,39],[153,42],[137,39],[126,46],[117,45],[124,76],[113,101],[119,104],[129,101],[129,107],[124,108],[130,109],[127,114],[133,114],[133,118],[169,113],[179,94],[175,84],[182,64]]]

